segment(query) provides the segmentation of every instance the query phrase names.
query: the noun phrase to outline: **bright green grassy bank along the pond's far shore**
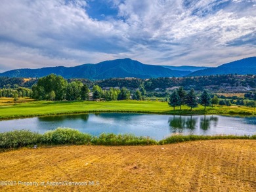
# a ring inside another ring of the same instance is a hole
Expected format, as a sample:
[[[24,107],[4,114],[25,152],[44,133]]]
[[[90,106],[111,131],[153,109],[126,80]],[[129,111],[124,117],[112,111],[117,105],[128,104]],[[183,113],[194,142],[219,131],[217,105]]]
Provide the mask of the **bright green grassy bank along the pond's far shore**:
[[[0,119],[14,119],[19,117],[34,117],[43,115],[62,115],[71,113],[99,113],[99,112],[130,112],[130,113],[158,113],[172,115],[203,115],[203,114],[232,114],[256,115],[252,107],[238,106],[203,106],[190,111],[189,107],[182,106],[182,110],[169,107],[167,102],[147,101],[112,101],[112,102],[29,102],[14,106],[0,107]]]

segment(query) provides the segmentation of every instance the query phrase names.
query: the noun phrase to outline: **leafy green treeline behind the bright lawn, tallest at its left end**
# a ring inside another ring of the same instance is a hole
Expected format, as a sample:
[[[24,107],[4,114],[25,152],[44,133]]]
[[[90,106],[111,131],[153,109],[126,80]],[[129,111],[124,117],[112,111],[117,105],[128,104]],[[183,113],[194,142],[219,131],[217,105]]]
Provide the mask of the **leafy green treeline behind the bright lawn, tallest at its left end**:
[[[145,94],[143,86],[133,94],[125,87],[102,90],[100,86],[94,85],[90,90],[80,81],[68,83],[63,77],[54,74],[39,78],[37,84],[32,86],[32,98],[36,100],[142,100]]]

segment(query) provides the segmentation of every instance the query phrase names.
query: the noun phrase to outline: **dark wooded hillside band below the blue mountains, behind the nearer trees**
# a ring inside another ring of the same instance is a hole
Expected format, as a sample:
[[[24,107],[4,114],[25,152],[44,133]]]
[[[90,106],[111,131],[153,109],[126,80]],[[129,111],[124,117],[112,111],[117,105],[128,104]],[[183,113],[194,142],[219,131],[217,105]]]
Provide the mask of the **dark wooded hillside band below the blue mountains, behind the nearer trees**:
[[[0,87],[9,85],[14,88],[14,85],[31,87],[37,83],[38,79],[30,79],[24,81],[22,78],[7,78],[0,77]],[[242,87],[250,86],[255,88],[256,75],[210,75],[201,77],[161,77],[152,79],[137,79],[137,78],[112,78],[100,81],[90,81],[89,79],[68,79],[68,83],[79,81],[89,87],[98,85],[102,88],[110,87],[126,87],[129,90],[136,90],[140,85],[143,85],[146,91],[152,92],[156,89],[165,91],[173,86],[183,86],[185,90],[203,90],[208,88],[211,91],[225,91],[228,87],[230,90],[241,90]]]

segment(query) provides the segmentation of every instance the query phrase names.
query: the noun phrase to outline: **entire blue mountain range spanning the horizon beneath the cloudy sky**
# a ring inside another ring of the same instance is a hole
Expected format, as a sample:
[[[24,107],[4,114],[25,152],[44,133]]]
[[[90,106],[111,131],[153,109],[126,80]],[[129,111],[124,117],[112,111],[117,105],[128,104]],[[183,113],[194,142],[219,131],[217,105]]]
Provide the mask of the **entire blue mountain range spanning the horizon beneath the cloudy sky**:
[[[40,69],[14,69],[0,73],[0,77],[43,77],[54,73],[64,78],[109,79],[114,77],[184,77],[221,74],[255,74],[256,57],[245,58],[219,67],[156,66],[142,64],[129,58],[83,64],[75,67],[43,67]]]

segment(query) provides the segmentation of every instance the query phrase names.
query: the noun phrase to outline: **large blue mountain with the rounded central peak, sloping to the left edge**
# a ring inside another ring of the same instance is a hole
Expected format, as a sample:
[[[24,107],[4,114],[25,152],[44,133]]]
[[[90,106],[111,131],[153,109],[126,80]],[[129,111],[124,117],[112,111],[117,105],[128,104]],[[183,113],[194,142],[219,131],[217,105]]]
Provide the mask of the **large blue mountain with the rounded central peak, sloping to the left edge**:
[[[75,67],[44,67],[41,69],[14,69],[0,73],[0,77],[43,77],[54,73],[64,78],[109,79],[112,77],[182,77],[191,71],[167,69],[162,66],[146,65],[138,61],[117,59],[98,64],[83,64]]]

